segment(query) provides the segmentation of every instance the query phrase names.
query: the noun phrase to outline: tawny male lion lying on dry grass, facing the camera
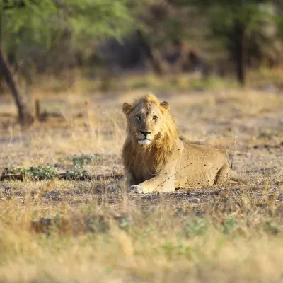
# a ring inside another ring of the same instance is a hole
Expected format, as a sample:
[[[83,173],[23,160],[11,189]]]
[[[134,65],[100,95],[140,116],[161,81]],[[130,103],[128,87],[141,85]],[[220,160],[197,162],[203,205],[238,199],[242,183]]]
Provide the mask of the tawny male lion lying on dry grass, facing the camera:
[[[191,188],[246,182],[231,173],[226,155],[208,144],[182,141],[166,101],[153,93],[124,103],[127,137],[122,149],[125,175],[107,192],[121,187],[127,192],[173,192],[175,187]]]

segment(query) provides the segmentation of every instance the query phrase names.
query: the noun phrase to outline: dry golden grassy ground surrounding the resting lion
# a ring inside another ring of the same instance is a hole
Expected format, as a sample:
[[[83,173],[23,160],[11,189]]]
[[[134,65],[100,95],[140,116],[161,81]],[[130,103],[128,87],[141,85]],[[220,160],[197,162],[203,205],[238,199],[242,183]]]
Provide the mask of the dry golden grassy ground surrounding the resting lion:
[[[61,172],[94,153],[101,158],[83,168],[121,171],[120,105],[144,91],[81,94],[39,93],[42,109],[62,117],[29,129],[1,116],[0,167],[56,164]],[[257,188],[105,195],[110,181],[1,182],[0,282],[282,282],[282,93],[157,95],[183,137],[226,150]],[[0,110],[13,113],[1,99]]]

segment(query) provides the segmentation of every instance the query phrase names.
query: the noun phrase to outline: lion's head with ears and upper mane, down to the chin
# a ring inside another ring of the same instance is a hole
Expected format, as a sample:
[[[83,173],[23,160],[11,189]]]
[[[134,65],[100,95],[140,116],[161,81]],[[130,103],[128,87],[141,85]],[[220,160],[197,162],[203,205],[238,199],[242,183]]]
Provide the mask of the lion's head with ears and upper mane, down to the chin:
[[[175,129],[173,118],[168,114],[169,108],[166,101],[160,103],[151,93],[133,105],[124,103],[122,110],[127,115],[128,136],[141,146],[156,144],[168,130]]]

